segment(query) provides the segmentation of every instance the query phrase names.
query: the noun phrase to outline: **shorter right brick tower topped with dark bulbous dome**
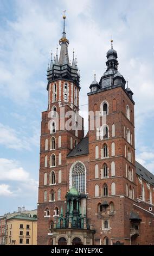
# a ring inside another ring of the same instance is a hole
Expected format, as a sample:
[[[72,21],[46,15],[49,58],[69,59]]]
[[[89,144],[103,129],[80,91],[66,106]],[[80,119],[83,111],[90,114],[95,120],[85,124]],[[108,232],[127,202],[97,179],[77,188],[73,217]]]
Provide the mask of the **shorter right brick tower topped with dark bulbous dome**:
[[[130,209],[136,200],[133,93],[118,71],[117,51],[107,52],[107,69],[88,93],[89,118],[88,218],[94,243],[130,244]],[[94,218],[95,216],[95,218]],[[101,227],[101,228],[100,228]]]

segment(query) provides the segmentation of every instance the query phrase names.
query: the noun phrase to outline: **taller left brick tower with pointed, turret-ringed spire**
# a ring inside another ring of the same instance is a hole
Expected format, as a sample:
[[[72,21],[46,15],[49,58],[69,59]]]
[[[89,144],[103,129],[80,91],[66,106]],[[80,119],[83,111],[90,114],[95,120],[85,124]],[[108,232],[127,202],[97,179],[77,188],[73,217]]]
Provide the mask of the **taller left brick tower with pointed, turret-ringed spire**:
[[[48,109],[42,112],[41,121],[38,245],[50,243],[48,233],[54,225],[54,218],[62,209],[67,209],[67,155],[84,137],[83,119],[78,115],[80,77],[74,52],[72,64],[69,63],[65,19],[63,15],[60,58],[56,51],[47,70]],[[77,117],[81,120],[80,125]]]

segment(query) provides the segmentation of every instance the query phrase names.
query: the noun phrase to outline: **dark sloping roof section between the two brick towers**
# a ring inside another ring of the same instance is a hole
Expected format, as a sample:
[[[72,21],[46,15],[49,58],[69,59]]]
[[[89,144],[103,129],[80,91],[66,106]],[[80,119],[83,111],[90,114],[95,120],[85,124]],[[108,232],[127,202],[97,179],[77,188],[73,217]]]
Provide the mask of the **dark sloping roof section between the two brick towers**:
[[[86,155],[88,153],[89,153],[88,138],[86,137],[86,138],[83,138],[82,141],[80,141],[72,151],[70,151],[67,157],[81,156],[81,155]]]

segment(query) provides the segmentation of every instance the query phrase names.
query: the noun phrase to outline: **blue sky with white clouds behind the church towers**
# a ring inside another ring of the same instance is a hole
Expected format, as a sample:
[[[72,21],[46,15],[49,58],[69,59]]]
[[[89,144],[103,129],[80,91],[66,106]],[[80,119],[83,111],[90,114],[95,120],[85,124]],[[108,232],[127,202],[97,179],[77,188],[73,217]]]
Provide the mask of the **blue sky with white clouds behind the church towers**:
[[[136,102],[136,159],[154,174],[154,1],[0,0],[0,215],[37,208],[47,65],[62,36],[63,10],[69,59],[74,48],[80,69],[80,105],[88,103],[94,70],[98,81],[105,71],[112,36]],[[87,105],[80,114],[87,130]]]

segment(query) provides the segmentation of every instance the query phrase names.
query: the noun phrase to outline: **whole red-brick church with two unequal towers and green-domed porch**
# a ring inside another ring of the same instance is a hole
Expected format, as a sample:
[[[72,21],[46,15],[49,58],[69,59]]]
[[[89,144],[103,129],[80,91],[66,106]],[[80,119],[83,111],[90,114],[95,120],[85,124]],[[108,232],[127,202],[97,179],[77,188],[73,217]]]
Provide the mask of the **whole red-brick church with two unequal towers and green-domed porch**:
[[[88,133],[79,114],[80,74],[65,31],[47,70],[42,112],[37,245],[154,245],[154,175],[136,161],[134,101],[107,51],[89,85]]]

